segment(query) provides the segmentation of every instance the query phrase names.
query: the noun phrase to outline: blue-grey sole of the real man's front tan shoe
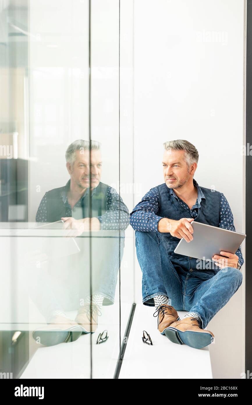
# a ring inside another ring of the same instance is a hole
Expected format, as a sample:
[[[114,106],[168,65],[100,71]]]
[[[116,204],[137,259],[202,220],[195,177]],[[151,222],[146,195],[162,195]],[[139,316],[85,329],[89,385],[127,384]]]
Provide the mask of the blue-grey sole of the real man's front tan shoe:
[[[185,344],[195,349],[202,349],[202,347],[210,345],[214,340],[208,332],[194,332],[192,330],[182,332],[172,326],[165,330],[165,336],[173,343]]]

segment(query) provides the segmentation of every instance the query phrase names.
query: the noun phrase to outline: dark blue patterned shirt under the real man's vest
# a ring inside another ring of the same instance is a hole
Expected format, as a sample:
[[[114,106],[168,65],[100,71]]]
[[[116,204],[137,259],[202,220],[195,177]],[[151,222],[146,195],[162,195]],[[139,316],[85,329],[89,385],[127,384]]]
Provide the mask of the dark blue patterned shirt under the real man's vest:
[[[197,186],[198,197],[195,205],[193,205],[191,210],[188,207],[188,205],[184,203],[184,201],[181,200],[176,195],[176,193],[172,188],[170,188],[169,190],[170,194],[176,197],[179,203],[184,207],[184,209],[190,213],[191,217],[197,218],[201,200],[205,199],[205,196],[195,179],[193,179],[193,183],[195,186]],[[227,199],[223,193],[220,193],[220,205],[221,205],[220,219],[218,224],[219,228],[224,228],[235,232],[235,226],[233,223],[233,214],[229,206],[229,203],[227,202]],[[134,230],[140,230],[142,232],[159,233],[157,227],[159,221],[163,217],[157,215],[158,211],[159,211],[159,193],[157,187],[153,187],[145,194],[140,203],[138,203],[136,207],[131,211],[131,213],[129,214],[130,218],[129,223]],[[235,252],[235,254],[237,254],[237,256],[239,257],[238,261],[242,266],[242,264],[244,264],[244,259],[242,257],[240,246]]]

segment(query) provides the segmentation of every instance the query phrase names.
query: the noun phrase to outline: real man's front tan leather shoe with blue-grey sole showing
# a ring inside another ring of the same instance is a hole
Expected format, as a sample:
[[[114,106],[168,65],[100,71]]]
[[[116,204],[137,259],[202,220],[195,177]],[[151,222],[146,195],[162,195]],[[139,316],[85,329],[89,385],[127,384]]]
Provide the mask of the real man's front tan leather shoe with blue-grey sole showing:
[[[195,349],[210,345],[214,340],[214,334],[210,330],[202,329],[197,318],[189,317],[170,324],[165,330],[165,336],[173,343],[185,344]]]

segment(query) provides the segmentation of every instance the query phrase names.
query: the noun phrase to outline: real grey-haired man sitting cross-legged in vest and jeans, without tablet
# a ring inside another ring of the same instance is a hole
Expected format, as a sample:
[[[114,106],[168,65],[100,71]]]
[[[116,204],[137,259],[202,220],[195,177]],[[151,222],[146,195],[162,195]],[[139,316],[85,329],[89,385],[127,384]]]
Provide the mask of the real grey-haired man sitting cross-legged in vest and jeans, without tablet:
[[[199,187],[193,178],[199,154],[182,139],[164,143],[165,183],[151,188],[130,213],[142,270],[143,304],[156,307],[158,330],[169,340],[200,349],[214,339],[205,330],[242,282],[241,248],[220,252],[208,270],[202,260],[174,253],[180,239],[193,239],[193,221],[235,232],[233,214],[224,194]],[[171,305],[169,305],[171,304]],[[188,311],[180,320],[177,311]],[[154,313],[154,316],[155,316]]]

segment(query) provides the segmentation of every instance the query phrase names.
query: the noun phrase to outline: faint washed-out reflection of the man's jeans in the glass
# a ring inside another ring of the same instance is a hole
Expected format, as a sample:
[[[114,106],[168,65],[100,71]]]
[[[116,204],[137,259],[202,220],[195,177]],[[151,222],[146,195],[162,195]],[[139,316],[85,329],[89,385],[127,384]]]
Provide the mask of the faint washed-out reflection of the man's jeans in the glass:
[[[103,295],[103,305],[114,303],[119,259],[121,264],[125,245],[123,231],[121,249],[119,233],[114,232],[114,235],[116,237],[92,237],[91,249],[90,238],[76,238],[79,253],[51,259],[48,269],[29,272],[30,297],[46,320],[54,310],[78,309],[91,293]]]

